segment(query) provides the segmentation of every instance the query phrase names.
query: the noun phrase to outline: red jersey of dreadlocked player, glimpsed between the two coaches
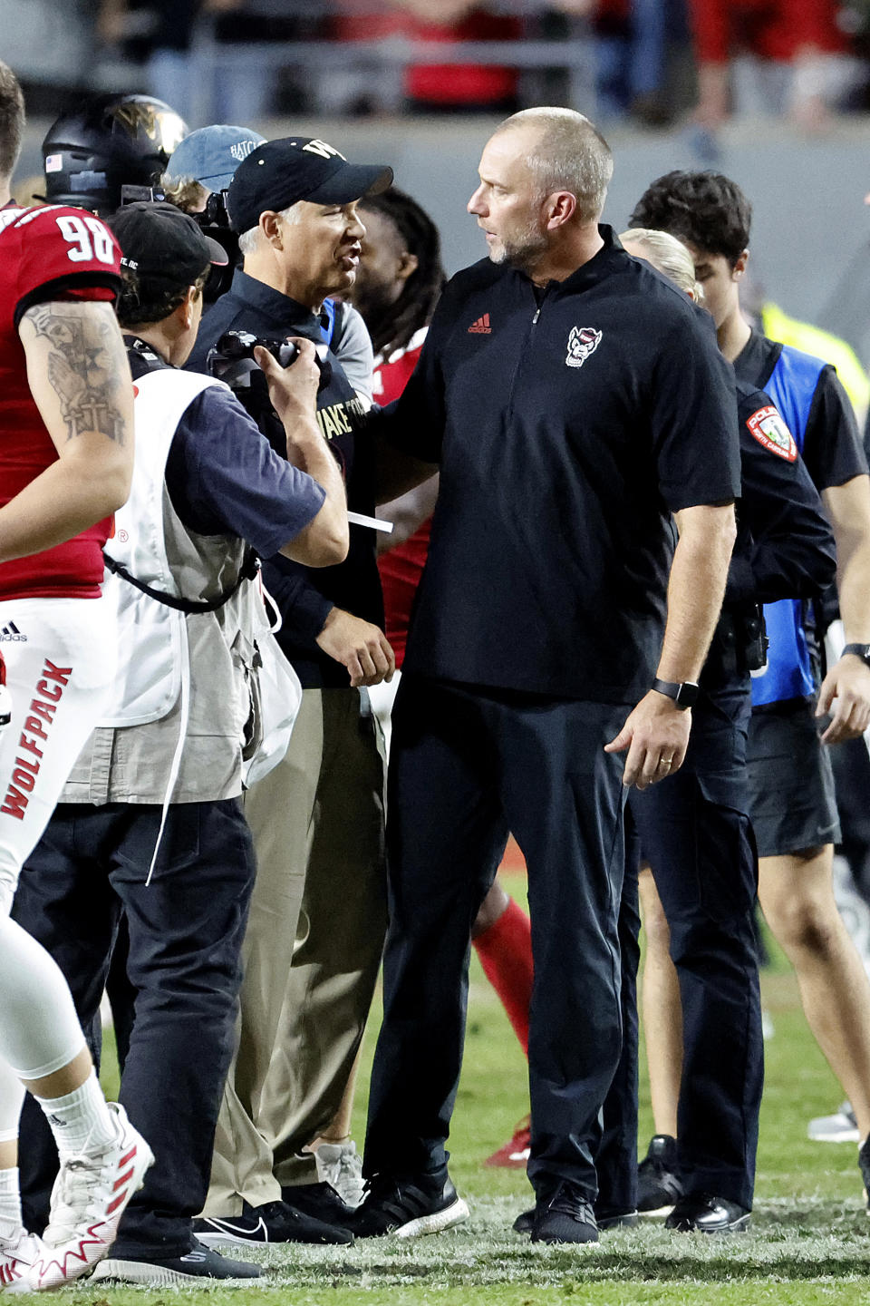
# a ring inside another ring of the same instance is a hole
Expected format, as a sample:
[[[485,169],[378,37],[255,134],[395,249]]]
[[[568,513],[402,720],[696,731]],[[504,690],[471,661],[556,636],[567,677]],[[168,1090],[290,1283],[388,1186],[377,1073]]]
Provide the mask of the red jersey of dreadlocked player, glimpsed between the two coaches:
[[[411,377],[411,372],[417,366],[425,336],[427,328],[424,326],[411,338],[407,349],[393,354],[387,363],[381,363],[380,367],[374,368],[372,398],[376,404],[391,404],[393,400],[398,400]],[[404,661],[411,607],[427,563],[430,530],[432,517],[428,517],[410,539],[378,558],[386,618],[385,635],[393,645],[397,666],[402,666]]]

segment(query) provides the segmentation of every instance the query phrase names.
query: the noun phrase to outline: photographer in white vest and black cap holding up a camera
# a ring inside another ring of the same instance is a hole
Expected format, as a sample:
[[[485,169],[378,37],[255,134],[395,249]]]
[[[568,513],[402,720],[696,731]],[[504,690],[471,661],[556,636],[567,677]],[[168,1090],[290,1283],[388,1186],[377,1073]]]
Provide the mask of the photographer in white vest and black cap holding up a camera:
[[[314,419],[312,346],[300,342],[287,372],[258,355],[283,422],[282,460],[224,385],[180,371],[220,248],[168,204],[132,204],[112,226],[137,432],[130,500],[107,546],[120,666],[14,912],[55,956],[85,1028],[121,908],[129,923],[136,1013],[120,1098],[157,1160],[100,1277],[248,1279],[256,1267],[196,1243],[192,1216],[209,1185],[254,879],[239,802],[258,742],[249,563],[252,550],[340,562],[344,487]]]

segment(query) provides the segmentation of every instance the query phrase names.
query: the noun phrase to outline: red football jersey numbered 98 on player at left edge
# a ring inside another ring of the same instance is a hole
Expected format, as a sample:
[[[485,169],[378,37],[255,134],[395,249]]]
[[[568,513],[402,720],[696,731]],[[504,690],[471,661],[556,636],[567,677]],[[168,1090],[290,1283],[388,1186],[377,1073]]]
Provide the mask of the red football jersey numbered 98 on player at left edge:
[[[113,296],[120,257],[91,213],[57,205],[0,210],[0,505],[57,458],[30,393],[18,323],[51,299]],[[53,549],[0,563],[0,598],[97,598],[111,526],[108,517]]]

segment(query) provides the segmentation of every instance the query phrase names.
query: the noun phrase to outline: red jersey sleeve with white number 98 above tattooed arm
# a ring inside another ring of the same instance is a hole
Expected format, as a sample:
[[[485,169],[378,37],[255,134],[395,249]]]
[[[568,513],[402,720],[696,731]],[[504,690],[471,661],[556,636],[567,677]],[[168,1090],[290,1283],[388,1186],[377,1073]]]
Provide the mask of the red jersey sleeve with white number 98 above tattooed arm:
[[[104,299],[120,287],[121,251],[104,222],[82,209],[46,205],[29,209],[13,223],[7,239],[17,244],[14,324],[33,304],[61,298]]]

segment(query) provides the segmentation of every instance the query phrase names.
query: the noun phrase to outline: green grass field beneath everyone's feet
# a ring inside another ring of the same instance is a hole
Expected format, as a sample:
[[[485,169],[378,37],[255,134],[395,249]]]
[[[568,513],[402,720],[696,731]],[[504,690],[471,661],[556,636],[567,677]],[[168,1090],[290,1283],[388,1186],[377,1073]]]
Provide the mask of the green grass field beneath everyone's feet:
[[[522,880],[509,885],[522,892]],[[724,1239],[668,1234],[660,1224],[603,1235],[575,1251],[532,1246],[510,1232],[530,1204],[523,1171],[492,1170],[485,1156],[527,1110],[526,1063],[498,999],[475,963],[466,1064],[451,1138],[453,1179],[472,1218],[458,1230],[403,1245],[370,1239],[351,1249],[275,1247],[249,1259],[266,1267],[258,1286],[196,1292],[121,1289],[86,1282],[63,1299],[89,1306],[845,1306],[870,1298],[870,1221],[852,1144],[810,1143],[806,1122],[828,1114],[840,1089],[810,1038],[792,976],[763,978],[775,1023],[766,1045],[767,1087],[753,1228]],[[361,1144],[367,1038],[355,1136]],[[583,1030],[578,1030],[583,1037]],[[111,1072],[110,1072],[111,1074]],[[651,1119],[642,1087],[640,1138]],[[37,1297],[26,1298],[34,1302]]]

